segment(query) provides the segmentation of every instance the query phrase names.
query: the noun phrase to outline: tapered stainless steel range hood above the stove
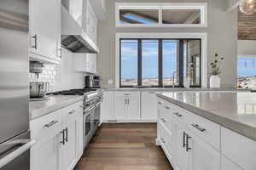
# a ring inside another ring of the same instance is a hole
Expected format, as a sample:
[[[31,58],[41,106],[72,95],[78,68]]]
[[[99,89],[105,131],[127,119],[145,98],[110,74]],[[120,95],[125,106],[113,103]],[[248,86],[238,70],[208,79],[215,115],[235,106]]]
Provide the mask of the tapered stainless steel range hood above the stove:
[[[96,43],[63,6],[61,7],[61,45],[73,53],[99,53]]]

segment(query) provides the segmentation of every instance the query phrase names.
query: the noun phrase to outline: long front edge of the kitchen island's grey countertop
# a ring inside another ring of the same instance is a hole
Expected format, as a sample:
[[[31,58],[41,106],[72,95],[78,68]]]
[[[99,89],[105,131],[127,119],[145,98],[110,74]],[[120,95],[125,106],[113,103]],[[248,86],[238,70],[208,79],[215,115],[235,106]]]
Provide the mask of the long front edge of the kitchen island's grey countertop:
[[[248,139],[253,139],[254,141],[256,141],[256,133],[255,133],[256,128],[255,127],[251,127],[251,126],[241,123],[241,122],[233,121],[224,116],[218,116],[218,115],[212,113],[211,111],[205,111],[205,110],[203,110],[199,107],[196,107],[194,105],[189,105],[189,104],[183,103],[181,101],[178,101],[176,99],[166,97],[163,94],[156,94],[156,95],[158,97],[160,97],[161,99],[165,99],[174,105],[180,106],[183,109],[194,113],[195,115],[202,116],[209,121],[218,123],[222,127],[228,128],[231,131],[234,131],[236,133],[241,134],[242,136],[247,137]]]

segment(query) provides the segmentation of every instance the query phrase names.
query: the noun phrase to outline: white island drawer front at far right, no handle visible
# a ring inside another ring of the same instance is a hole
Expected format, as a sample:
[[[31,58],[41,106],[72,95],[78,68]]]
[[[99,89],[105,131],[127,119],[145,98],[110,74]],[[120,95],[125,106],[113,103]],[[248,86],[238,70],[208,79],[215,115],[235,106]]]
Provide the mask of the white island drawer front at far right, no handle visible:
[[[256,169],[256,142],[221,127],[222,154],[245,170]]]

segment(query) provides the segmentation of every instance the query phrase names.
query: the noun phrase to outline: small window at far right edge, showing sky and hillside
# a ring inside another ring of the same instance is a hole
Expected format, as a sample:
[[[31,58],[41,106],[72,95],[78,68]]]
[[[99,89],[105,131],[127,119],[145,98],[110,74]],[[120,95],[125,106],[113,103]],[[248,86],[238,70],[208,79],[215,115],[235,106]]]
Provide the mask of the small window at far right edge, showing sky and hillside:
[[[256,88],[256,57],[238,57],[237,88]]]

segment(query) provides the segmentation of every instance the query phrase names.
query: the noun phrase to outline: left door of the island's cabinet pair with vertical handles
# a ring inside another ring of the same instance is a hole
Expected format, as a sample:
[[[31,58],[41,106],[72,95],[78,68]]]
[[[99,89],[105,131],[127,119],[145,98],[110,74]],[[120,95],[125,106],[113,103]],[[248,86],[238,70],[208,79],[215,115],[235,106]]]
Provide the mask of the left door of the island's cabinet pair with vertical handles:
[[[184,144],[184,133],[185,129],[179,122],[173,121],[174,123],[174,162],[175,169],[177,170],[189,170],[189,152],[186,151]]]

